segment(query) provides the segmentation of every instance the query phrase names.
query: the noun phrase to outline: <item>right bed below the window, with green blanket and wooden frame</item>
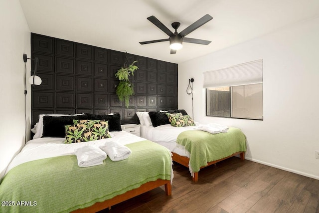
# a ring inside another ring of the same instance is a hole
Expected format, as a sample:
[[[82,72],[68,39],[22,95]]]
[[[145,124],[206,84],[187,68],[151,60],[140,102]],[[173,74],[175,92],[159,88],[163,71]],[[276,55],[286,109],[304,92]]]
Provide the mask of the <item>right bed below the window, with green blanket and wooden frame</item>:
[[[187,115],[184,110],[169,110],[167,113]],[[198,172],[204,167],[237,155],[241,160],[245,159],[246,137],[238,128],[230,127],[226,133],[210,134],[196,130],[199,125],[196,122],[196,126],[173,127],[162,119],[160,112],[150,115],[140,112],[138,116],[141,137],[169,149],[174,162],[189,168],[193,182],[198,181]]]

